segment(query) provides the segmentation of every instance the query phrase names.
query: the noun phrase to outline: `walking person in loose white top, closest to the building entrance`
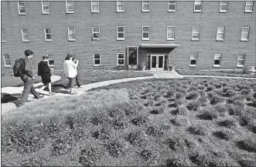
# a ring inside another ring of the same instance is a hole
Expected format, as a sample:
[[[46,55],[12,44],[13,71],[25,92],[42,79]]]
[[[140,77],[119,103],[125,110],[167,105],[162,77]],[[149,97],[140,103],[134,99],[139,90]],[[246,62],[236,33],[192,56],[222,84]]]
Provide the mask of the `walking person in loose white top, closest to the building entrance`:
[[[70,95],[77,94],[77,92],[73,91],[73,88],[75,86],[75,80],[77,76],[78,62],[79,61],[77,60],[77,63],[74,63],[72,61],[72,55],[70,55],[69,53],[67,54],[66,60],[63,62],[65,76],[68,77],[70,80]]]

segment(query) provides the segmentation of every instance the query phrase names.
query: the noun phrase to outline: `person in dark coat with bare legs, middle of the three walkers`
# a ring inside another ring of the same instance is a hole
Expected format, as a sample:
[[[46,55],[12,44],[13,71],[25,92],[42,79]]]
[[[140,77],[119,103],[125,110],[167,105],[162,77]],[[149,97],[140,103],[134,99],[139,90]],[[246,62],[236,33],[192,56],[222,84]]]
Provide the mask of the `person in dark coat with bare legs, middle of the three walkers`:
[[[43,87],[41,89],[39,89],[39,93],[42,92],[43,89],[46,89],[46,87],[48,86],[49,95],[55,95],[55,93],[52,92],[51,72],[50,72],[50,68],[48,66],[49,56],[45,55],[42,58],[43,58],[43,60],[41,62],[39,62],[38,71],[37,71],[37,75],[41,76],[42,82],[43,82]]]

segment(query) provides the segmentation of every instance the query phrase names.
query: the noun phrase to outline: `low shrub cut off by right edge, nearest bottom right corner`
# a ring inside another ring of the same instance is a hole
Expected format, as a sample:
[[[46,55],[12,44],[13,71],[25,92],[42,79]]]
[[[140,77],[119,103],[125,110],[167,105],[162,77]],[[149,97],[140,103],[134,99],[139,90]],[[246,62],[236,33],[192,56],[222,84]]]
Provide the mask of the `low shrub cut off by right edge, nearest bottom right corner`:
[[[248,138],[237,142],[239,149],[244,149],[247,152],[256,152],[256,139]]]

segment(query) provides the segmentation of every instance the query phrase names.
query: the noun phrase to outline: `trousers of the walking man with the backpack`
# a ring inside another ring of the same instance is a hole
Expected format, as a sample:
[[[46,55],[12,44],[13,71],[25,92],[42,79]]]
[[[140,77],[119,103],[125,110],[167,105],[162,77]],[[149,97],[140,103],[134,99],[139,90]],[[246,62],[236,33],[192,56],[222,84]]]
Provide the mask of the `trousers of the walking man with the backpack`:
[[[24,104],[26,103],[28,97],[29,97],[29,92],[32,93],[32,95],[34,95],[36,97],[36,99],[39,98],[39,93],[36,92],[34,86],[33,86],[33,80],[31,77],[29,77],[28,75],[23,75],[21,77],[22,82],[24,82],[24,90],[22,92],[22,98],[20,99],[20,103]]]

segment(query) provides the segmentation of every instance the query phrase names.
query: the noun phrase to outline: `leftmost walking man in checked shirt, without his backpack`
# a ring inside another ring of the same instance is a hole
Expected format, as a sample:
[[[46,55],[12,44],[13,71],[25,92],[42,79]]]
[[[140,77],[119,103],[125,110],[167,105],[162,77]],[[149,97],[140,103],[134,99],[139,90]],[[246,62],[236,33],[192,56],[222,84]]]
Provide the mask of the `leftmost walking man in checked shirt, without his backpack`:
[[[35,87],[33,86],[33,79],[35,78],[32,73],[32,57],[34,52],[32,50],[26,50],[24,52],[25,58],[25,69],[24,73],[20,76],[22,79],[22,82],[24,82],[24,90],[22,92],[22,97],[19,101],[18,106],[24,105],[29,98],[29,92],[32,93],[36,97],[36,99],[41,99],[43,98],[43,95],[40,96],[38,92],[36,92]]]

